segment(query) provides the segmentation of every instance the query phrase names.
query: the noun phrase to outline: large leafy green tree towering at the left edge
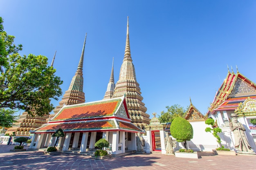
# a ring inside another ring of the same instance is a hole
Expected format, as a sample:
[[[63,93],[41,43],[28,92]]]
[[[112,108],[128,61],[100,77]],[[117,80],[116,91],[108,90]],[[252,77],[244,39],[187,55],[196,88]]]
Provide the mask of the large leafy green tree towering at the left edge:
[[[0,24],[2,28],[2,20]],[[0,108],[21,109],[29,114],[49,114],[54,107],[50,99],[58,99],[62,92],[60,77],[56,70],[48,66],[47,57],[43,55],[19,55],[17,46],[11,42],[4,31],[1,32],[2,71],[0,83],[6,82],[7,88],[0,89]],[[21,46],[19,46],[21,48]]]

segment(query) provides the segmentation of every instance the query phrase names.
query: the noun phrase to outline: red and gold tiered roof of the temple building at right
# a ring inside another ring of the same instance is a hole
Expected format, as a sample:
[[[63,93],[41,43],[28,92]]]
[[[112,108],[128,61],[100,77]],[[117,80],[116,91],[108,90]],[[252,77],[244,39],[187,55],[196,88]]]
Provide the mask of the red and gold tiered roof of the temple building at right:
[[[256,84],[239,72],[228,72],[207,114],[218,110],[234,110],[239,102],[245,101],[249,96],[256,96]]]

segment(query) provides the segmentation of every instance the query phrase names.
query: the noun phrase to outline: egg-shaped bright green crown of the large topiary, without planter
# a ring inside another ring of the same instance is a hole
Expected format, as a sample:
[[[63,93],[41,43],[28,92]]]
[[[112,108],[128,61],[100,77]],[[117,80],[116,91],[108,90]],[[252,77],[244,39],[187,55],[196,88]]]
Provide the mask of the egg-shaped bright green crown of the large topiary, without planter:
[[[189,121],[182,117],[176,117],[171,123],[171,135],[177,142],[189,141],[193,138],[193,128]]]

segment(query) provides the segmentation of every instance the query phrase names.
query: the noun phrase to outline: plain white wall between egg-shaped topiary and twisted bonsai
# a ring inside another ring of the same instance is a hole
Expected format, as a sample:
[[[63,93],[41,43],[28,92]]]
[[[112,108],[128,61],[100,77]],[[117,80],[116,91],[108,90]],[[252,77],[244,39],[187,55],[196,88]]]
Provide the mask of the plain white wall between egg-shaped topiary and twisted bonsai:
[[[193,139],[187,141],[187,146],[195,151],[212,151],[217,148],[216,138],[210,132],[205,132],[205,128],[210,127],[205,121],[189,122],[193,127]],[[184,143],[184,142],[183,142]],[[183,144],[182,143],[182,144]],[[184,148],[181,143],[177,144],[177,150]]]

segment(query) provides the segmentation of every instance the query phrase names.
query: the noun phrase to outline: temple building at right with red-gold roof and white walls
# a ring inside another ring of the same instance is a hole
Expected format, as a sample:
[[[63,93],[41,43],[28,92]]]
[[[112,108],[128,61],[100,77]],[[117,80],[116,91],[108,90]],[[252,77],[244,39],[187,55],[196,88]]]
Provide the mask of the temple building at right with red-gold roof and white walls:
[[[231,68],[232,69],[232,68]],[[222,129],[222,145],[234,150],[234,134],[229,129],[231,114],[236,113],[238,121],[245,127],[249,145],[256,151],[256,128],[250,122],[256,119],[256,84],[241,73],[230,72],[216,93],[209,107],[208,117],[217,120]]]

